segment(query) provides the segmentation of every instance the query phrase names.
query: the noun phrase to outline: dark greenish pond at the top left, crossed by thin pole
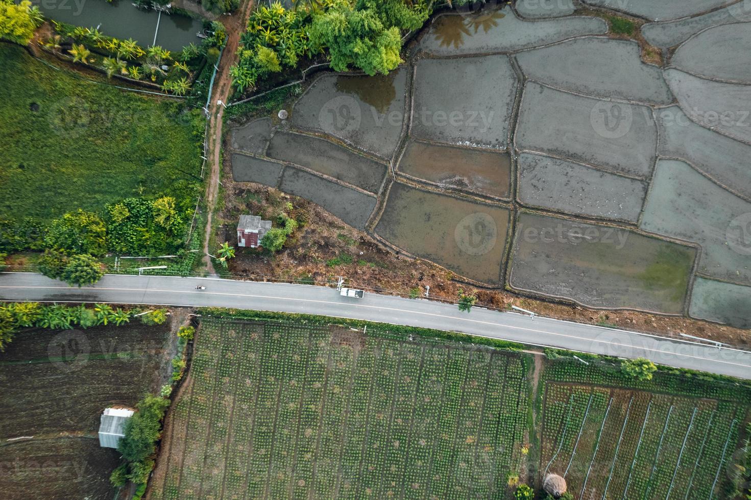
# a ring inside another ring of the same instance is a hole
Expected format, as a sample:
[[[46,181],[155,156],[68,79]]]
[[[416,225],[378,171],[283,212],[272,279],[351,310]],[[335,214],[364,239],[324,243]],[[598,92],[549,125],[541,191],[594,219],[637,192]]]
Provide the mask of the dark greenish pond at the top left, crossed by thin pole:
[[[44,16],[74,26],[98,27],[104,35],[133,38],[141,47],[160,45],[164,49],[178,51],[201,38],[203,23],[177,14],[158,11],[142,11],[128,0],[35,0]]]

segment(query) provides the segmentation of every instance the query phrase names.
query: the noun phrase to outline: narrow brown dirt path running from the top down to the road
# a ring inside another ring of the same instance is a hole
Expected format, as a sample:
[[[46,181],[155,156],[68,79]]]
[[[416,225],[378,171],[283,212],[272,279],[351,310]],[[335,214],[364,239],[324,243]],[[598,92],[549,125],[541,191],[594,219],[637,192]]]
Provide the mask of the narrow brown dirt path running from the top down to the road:
[[[211,222],[213,212],[216,208],[216,195],[219,192],[219,172],[221,168],[222,151],[222,119],[224,117],[224,106],[217,104],[217,101],[226,102],[232,89],[232,77],[230,76],[230,67],[237,60],[237,45],[240,44],[240,35],[246,28],[248,17],[255,5],[254,0],[246,0],[240,6],[234,15],[222,16],[219,18],[227,30],[228,40],[222,60],[219,62],[219,70],[216,72],[214,88],[209,100],[209,128],[208,134],[208,157],[210,158],[209,177],[206,186],[206,227],[204,229],[204,267],[210,275],[216,275],[214,266],[209,257],[209,242],[211,239]]]

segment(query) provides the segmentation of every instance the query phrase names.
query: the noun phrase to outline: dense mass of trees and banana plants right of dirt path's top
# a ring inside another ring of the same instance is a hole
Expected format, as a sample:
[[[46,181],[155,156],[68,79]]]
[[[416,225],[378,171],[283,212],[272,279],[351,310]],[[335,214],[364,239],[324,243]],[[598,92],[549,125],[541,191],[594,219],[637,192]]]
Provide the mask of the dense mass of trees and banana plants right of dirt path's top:
[[[231,69],[239,92],[303,58],[326,53],[336,71],[388,74],[402,62],[402,35],[430,16],[429,0],[309,0],[287,10],[279,2],[253,12]]]

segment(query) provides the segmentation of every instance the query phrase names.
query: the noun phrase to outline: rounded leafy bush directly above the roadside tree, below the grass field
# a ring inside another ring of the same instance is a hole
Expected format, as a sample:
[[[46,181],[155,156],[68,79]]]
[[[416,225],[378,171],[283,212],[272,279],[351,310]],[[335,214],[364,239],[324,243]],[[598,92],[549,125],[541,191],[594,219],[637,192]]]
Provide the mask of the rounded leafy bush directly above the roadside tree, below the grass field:
[[[47,248],[67,254],[104,255],[107,252],[107,228],[104,221],[92,212],[66,213],[56,219],[44,236]]]

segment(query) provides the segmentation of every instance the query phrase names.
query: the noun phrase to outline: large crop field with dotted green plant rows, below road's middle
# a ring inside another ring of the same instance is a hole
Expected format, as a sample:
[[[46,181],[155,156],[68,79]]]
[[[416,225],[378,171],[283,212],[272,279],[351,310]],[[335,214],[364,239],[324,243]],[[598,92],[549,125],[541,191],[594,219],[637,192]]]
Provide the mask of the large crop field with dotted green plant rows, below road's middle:
[[[523,474],[526,357],[203,321],[152,498],[487,498]]]

